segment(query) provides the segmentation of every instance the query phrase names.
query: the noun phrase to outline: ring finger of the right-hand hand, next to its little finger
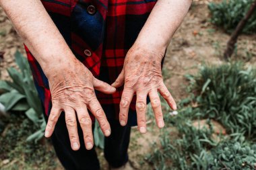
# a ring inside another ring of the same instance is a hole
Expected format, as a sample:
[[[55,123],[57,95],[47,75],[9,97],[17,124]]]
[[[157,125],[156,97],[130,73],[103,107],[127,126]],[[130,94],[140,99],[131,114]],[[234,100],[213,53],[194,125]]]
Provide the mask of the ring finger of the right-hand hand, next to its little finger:
[[[149,95],[150,95],[150,102],[156,118],[156,124],[158,124],[158,128],[163,128],[164,118],[162,116],[161,102],[158,96],[158,91],[154,89],[150,91]]]

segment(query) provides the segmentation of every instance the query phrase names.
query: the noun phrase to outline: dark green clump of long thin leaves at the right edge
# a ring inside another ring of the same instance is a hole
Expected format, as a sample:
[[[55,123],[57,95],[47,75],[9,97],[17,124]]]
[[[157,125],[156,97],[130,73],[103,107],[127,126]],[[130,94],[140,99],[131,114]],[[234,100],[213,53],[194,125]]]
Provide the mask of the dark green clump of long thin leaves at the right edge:
[[[195,76],[196,102],[203,118],[221,122],[229,133],[255,140],[256,70],[241,62],[203,67]]]

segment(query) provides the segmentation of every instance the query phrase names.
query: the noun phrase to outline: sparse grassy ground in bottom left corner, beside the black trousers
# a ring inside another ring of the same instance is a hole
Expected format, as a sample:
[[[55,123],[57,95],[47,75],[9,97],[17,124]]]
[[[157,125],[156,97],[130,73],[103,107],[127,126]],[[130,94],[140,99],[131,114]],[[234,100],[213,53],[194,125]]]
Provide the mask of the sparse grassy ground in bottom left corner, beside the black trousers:
[[[36,130],[24,114],[3,118],[0,129],[0,169],[55,169],[55,151],[49,140],[27,142],[28,134]],[[3,127],[5,129],[3,130]],[[7,161],[6,165],[3,162]]]

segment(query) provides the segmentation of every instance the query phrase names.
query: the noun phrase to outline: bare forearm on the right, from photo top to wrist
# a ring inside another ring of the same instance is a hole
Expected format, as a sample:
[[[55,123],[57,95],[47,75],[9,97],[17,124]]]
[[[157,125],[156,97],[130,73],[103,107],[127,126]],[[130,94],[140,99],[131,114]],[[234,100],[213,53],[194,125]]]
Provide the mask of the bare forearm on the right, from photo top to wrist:
[[[191,0],[158,0],[135,44],[164,52],[190,5]]]

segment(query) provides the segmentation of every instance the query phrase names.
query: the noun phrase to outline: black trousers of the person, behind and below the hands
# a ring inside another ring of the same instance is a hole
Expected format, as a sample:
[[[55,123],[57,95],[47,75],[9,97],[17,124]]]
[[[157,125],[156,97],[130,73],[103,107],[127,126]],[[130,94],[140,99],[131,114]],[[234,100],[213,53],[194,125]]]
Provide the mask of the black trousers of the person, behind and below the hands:
[[[108,120],[109,121],[109,120]],[[78,121],[77,121],[78,122]],[[128,161],[128,146],[131,133],[130,126],[121,126],[117,120],[109,121],[111,134],[104,139],[104,157],[111,167],[121,167]],[[88,151],[84,145],[82,129],[78,126],[80,148],[73,151],[69,142],[69,135],[65,124],[65,114],[61,114],[53,136],[53,146],[59,161],[65,169],[76,170],[98,170],[100,164],[96,155],[95,148]]]

